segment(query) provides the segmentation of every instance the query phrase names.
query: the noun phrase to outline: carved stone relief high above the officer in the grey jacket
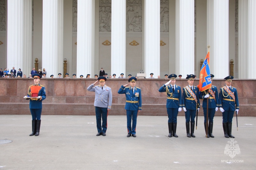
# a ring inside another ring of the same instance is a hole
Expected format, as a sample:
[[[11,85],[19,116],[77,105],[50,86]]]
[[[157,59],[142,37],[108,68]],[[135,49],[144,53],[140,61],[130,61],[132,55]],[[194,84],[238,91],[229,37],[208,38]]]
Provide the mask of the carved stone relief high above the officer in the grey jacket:
[[[100,0],[99,31],[111,32],[111,0]]]

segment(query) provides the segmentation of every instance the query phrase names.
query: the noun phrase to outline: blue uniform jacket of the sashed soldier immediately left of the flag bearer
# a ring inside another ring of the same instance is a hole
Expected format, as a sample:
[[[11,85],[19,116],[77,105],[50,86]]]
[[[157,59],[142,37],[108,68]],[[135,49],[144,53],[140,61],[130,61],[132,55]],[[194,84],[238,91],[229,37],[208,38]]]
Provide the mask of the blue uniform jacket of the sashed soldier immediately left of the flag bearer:
[[[196,107],[196,101],[195,100],[188,100],[186,98],[193,99],[192,95],[187,91],[187,89],[183,88],[183,94],[182,94],[182,107],[186,107],[186,109],[190,110],[196,110],[197,108],[200,108],[200,101],[199,101],[199,89],[193,85],[193,92],[196,95],[197,99],[197,107]]]

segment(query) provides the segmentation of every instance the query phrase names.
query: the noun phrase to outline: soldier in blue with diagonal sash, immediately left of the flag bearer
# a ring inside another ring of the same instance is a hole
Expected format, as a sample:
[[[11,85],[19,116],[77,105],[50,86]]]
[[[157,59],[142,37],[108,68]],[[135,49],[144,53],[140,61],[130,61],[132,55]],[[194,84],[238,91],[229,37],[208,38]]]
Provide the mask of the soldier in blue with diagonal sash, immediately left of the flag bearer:
[[[186,79],[188,79],[188,86],[183,88],[182,95],[182,107],[183,110],[185,111],[187,137],[196,137],[194,135],[196,109],[199,110],[200,108],[199,90],[196,86],[193,85],[194,78],[195,75],[193,74],[190,74],[186,77]],[[191,123],[190,134],[189,122]]]

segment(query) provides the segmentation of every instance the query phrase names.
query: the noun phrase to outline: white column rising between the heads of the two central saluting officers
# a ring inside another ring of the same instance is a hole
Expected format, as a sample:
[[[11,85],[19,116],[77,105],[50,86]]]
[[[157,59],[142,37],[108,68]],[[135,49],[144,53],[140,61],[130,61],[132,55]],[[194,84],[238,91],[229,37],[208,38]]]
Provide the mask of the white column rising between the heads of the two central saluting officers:
[[[126,75],[126,0],[111,1],[111,75]],[[131,61],[134,62],[134,61]]]

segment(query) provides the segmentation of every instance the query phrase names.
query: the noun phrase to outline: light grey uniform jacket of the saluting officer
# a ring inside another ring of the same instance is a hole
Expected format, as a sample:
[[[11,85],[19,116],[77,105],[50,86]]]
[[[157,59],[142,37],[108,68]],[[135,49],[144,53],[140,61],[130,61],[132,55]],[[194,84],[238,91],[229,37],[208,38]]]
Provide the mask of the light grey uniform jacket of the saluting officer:
[[[103,89],[100,85],[94,85],[91,84],[87,90],[90,92],[95,92],[95,99],[94,99],[94,106],[96,107],[108,107],[108,109],[111,109],[112,105],[112,91],[111,88],[104,85]]]

